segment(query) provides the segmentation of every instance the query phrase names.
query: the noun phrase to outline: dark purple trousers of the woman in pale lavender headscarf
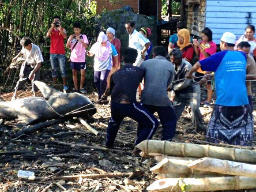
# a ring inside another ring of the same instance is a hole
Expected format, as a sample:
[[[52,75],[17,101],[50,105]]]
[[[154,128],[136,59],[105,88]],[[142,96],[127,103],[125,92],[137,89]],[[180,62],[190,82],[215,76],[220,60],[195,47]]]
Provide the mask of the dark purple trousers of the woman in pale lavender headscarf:
[[[100,72],[94,72],[94,83],[98,89],[98,99],[104,94],[107,88],[107,79],[109,76],[110,70],[105,69]]]

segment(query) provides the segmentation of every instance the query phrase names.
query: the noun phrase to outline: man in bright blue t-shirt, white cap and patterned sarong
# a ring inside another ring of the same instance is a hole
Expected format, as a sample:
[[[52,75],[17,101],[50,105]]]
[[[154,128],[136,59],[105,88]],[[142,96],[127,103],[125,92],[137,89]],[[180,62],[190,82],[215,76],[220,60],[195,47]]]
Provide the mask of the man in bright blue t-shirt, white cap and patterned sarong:
[[[247,60],[245,53],[234,51],[235,41],[234,34],[224,33],[220,42],[222,51],[197,62],[186,78],[194,78],[192,73],[200,67],[203,71],[215,72],[217,99],[207,127],[207,141],[250,145],[253,120],[245,85],[249,78],[246,78]]]

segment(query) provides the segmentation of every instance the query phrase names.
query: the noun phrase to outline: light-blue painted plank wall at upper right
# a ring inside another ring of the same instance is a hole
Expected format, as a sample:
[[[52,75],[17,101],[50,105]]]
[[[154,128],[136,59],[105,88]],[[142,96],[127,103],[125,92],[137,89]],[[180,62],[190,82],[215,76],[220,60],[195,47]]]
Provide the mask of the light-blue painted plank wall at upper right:
[[[215,43],[227,31],[239,38],[248,24],[256,25],[256,0],[207,0],[205,26],[211,28]]]

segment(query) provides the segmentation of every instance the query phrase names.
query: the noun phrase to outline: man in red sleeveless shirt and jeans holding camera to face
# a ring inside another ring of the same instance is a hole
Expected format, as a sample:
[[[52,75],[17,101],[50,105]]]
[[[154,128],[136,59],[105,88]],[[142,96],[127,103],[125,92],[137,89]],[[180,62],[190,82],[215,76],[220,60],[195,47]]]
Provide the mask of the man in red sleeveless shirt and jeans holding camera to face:
[[[67,86],[67,69],[66,69],[66,55],[64,49],[64,38],[67,38],[66,30],[61,27],[60,16],[53,17],[53,23],[49,28],[46,37],[51,38],[50,46],[50,61],[52,66],[53,83],[57,81],[57,67],[59,64],[61,76],[63,79],[63,89],[68,90]]]

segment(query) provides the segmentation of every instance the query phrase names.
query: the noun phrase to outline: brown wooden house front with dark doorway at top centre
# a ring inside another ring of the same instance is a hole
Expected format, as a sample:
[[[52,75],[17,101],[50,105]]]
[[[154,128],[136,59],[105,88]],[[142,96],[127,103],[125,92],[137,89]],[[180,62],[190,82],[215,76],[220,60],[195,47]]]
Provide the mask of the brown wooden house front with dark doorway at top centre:
[[[134,12],[141,15],[156,16],[161,19],[162,0],[120,0],[117,3],[110,3],[109,0],[97,0],[97,13],[104,9],[112,11],[122,8],[125,5],[131,6]]]

